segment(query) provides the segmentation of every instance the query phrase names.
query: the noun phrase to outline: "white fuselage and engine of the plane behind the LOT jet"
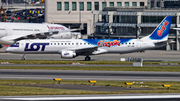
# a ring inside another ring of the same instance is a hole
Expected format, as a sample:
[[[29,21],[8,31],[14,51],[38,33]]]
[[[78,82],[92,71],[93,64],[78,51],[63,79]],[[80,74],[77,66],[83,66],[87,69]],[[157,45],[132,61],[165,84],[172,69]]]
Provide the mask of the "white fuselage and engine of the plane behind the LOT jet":
[[[0,44],[9,44],[8,39],[4,40],[6,36],[22,36],[22,35],[33,35],[36,33],[44,33],[48,31],[63,31],[68,30],[67,27],[58,24],[36,24],[36,23],[0,23]],[[63,32],[54,34],[51,38],[55,39],[70,39],[72,38],[71,32]],[[7,42],[6,42],[7,41]],[[10,41],[10,39],[9,39]]]

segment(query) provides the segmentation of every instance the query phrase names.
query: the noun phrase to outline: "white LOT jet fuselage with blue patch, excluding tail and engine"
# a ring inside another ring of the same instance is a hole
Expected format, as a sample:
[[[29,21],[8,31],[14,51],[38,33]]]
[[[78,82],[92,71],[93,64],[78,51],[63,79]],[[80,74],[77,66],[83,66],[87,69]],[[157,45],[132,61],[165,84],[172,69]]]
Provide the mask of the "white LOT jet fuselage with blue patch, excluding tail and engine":
[[[62,51],[74,51],[77,55],[97,55],[103,53],[130,53],[155,48],[152,42],[140,39],[107,39],[102,46],[98,42],[104,39],[34,39],[21,40],[18,45],[12,45],[7,52],[21,54],[61,54]],[[119,44],[115,42],[119,41]],[[111,42],[111,44],[108,44]],[[114,43],[113,43],[114,42]],[[88,48],[97,47],[92,51]],[[86,50],[83,50],[86,49]],[[82,52],[81,52],[82,51]]]

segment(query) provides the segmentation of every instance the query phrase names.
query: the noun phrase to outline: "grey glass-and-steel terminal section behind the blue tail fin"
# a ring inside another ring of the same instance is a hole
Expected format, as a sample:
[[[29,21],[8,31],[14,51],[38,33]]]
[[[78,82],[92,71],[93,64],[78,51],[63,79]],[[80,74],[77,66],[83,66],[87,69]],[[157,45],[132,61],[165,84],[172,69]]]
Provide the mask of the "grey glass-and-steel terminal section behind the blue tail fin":
[[[164,19],[173,16],[171,27],[180,26],[180,9],[145,9],[108,7],[93,11],[95,38],[142,38],[149,35]],[[163,50],[179,50],[179,31],[171,29],[169,40],[175,43],[162,47]]]

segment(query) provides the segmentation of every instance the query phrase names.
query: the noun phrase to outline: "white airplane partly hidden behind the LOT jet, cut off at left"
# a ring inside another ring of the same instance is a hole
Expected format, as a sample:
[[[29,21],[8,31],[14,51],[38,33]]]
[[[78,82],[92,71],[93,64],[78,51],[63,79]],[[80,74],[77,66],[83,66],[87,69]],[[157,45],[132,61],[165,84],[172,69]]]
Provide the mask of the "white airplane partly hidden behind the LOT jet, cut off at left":
[[[22,39],[70,39],[72,32],[79,29],[68,29],[63,25],[48,23],[0,23],[0,48],[2,45],[12,45]]]

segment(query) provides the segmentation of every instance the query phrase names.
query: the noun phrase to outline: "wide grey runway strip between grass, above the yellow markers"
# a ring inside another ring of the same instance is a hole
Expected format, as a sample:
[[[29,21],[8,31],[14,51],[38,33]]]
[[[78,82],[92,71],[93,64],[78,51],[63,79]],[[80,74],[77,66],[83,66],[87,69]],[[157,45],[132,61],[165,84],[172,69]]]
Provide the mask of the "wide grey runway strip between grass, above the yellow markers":
[[[112,80],[112,81],[180,81],[179,72],[81,71],[1,69],[0,79],[52,80]]]

